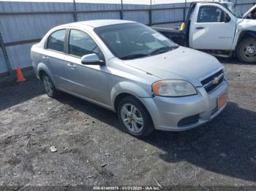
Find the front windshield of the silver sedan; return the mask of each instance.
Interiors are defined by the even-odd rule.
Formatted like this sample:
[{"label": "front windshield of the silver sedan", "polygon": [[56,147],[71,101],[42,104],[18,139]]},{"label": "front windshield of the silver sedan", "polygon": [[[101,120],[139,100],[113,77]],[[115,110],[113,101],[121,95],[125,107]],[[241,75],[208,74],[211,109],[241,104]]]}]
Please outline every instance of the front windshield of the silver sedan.
[{"label": "front windshield of the silver sedan", "polygon": [[117,58],[131,60],[157,55],[178,47],[162,34],[140,23],[124,23],[94,29]]}]

